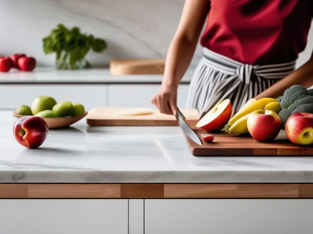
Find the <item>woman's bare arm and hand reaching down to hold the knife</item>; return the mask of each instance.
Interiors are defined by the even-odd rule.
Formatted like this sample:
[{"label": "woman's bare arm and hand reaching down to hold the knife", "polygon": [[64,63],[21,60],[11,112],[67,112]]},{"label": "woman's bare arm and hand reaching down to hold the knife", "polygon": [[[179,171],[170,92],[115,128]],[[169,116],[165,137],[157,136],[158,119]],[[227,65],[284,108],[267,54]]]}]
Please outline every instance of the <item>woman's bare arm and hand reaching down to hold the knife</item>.
[{"label": "woman's bare arm and hand reaching down to hold the knife", "polygon": [[186,0],[177,31],[166,56],[160,91],[151,102],[164,114],[177,110],[177,87],[185,74],[209,12],[208,0]]}]

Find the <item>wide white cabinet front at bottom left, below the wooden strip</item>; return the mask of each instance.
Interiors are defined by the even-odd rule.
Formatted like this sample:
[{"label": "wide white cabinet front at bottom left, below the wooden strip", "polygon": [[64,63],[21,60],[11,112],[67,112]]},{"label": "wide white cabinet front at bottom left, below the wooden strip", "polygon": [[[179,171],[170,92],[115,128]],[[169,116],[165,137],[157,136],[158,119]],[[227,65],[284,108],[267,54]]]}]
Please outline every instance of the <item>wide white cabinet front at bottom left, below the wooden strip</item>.
[{"label": "wide white cabinet front at bottom left, below the wooden strip", "polygon": [[128,233],[127,200],[0,200],[0,233]]}]

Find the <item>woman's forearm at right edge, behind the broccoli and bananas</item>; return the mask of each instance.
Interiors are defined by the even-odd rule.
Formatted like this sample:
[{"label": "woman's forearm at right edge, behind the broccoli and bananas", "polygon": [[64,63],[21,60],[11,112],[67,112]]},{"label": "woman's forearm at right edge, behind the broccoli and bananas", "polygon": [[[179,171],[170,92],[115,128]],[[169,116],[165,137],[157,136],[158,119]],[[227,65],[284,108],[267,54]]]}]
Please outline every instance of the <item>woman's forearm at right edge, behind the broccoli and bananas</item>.
[{"label": "woman's forearm at right edge, behind the broccoli and bananas", "polygon": [[313,85],[313,52],[309,61],[267,90],[255,96],[255,99],[264,97],[277,98],[283,95],[284,91],[292,85],[302,85],[305,88],[309,88]]}]

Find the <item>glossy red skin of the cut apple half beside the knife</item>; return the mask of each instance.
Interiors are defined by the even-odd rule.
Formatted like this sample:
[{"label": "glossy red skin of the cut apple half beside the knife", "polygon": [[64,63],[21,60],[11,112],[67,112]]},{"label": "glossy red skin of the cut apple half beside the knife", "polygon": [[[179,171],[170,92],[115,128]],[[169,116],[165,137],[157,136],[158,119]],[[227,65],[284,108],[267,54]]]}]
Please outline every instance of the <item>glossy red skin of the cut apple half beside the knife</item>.
[{"label": "glossy red skin of the cut apple half beside the knife", "polygon": [[[216,108],[216,107],[213,107],[213,108]],[[210,123],[203,125],[199,128],[208,132],[219,131],[223,129],[223,127],[228,123],[232,115],[232,112],[233,112],[233,107],[232,107],[231,102],[229,102],[227,107],[223,110],[223,112],[220,115],[218,115],[217,118],[213,119]]]}]

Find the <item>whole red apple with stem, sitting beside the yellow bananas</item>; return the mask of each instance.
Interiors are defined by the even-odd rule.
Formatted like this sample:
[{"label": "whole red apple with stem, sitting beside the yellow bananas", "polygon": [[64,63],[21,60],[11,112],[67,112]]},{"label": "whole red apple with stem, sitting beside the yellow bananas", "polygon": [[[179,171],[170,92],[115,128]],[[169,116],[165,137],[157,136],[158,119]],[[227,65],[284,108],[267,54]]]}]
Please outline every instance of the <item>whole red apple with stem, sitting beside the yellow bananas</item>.
[{"label": "whole red apple with stem, sitting beside the yellow bananas", "polygon": [[247,128],[251,136],[257,141],[274,140],[281,129],[281,120],[272,110],[265,110],[260,113],[256,110],[249,114]]}]

